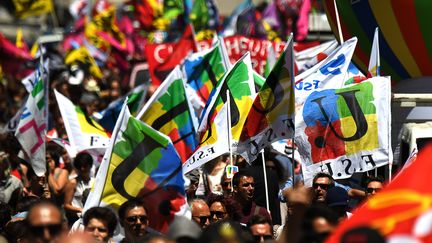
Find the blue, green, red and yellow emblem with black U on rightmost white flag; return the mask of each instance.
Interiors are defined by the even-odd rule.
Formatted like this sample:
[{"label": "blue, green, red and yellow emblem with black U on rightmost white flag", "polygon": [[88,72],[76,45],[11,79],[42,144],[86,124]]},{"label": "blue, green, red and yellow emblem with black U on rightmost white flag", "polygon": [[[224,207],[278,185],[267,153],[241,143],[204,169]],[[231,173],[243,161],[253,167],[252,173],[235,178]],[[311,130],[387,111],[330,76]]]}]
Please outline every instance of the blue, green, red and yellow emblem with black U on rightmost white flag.
[{"label": "blue, green, red and yellow emblem with black U on rightmost white flag", "polygon": [[343,89],[313,92],[303,119],[313,163],[378,148],[373,86],[369,82]]}]

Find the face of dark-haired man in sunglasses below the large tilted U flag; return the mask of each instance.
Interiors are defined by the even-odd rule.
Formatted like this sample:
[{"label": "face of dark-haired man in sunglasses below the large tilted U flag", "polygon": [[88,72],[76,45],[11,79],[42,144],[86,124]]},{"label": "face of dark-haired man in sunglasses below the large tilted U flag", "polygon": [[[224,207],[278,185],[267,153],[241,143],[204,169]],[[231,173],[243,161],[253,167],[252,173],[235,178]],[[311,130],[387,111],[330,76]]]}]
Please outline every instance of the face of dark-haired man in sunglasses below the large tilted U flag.
[{"label": "face of dark-haired man in sunglasses below the large tilted U flag", "polygon": [[140,206],[131,208],[125,216],[123,223],[126,235],[134,238],[145,236],[145,229],[149,224],[145,209]]}]

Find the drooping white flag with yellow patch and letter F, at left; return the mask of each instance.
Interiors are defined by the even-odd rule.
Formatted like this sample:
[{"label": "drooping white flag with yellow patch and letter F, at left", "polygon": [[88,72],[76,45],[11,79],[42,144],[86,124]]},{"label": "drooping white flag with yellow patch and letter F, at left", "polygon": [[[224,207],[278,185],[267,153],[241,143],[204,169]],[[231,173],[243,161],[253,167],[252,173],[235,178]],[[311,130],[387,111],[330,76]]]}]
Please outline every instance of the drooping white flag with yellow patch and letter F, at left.
[{"label": "drooping white flag with yellow patch and letter F, at left", "polygon": [[105,149],[111,135],[64,95],[57,90],[54,90],[54,94],[72,148],[77,153],[89,149]]}]

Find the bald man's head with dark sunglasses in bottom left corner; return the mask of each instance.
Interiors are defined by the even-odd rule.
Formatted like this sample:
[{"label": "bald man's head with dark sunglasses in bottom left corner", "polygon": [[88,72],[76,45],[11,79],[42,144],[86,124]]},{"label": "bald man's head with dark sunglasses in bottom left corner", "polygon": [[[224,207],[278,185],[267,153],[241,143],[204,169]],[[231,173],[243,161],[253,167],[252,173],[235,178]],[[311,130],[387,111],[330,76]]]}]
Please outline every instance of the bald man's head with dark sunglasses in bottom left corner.
[{"label": "bald man's head with dark sunglasses in bottom left corner", "polygon": [[57,242],[63,233],[60,210],[53,205],[35,206],[27,220],[35,242]]}]

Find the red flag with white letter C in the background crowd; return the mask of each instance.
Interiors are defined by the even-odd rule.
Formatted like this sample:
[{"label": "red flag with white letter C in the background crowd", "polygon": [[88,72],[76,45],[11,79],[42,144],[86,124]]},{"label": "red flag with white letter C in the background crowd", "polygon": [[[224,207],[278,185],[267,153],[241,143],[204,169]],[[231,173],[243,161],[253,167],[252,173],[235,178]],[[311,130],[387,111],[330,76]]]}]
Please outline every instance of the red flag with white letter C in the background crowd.
[{"label": "red flag with white letter C in the background crowd", "polygon": [[198,51],[190,24],[186,27],[180,40],[172,47],[172,53],[166,53],[166,58],[163,58],[158,52],[158,50],[163,49],[163,45],[170,45],[170,43],[148,44],[145,47],[150,77],[155,85],[160,85],[175,66],[180,64],[190,52]]}]

